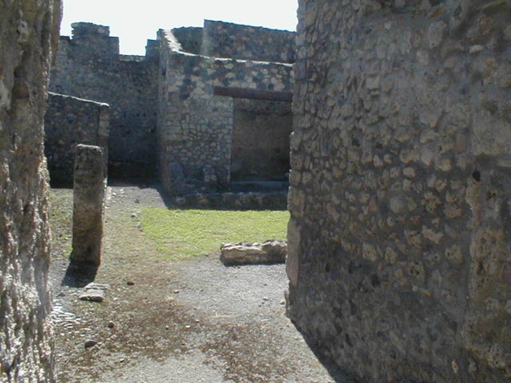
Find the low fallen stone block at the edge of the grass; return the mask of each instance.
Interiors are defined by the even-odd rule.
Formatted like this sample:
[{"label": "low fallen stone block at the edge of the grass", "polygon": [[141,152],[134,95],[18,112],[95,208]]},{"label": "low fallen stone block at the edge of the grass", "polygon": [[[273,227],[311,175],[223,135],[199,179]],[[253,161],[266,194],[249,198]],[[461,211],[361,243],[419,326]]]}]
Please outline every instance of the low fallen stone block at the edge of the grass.
[{"label": "low fallen stone block at the edge of the grass", "polygon": [[283,264],[286,262],[287,242],[224,244],[221,251],[220,260],[225,266]]}]

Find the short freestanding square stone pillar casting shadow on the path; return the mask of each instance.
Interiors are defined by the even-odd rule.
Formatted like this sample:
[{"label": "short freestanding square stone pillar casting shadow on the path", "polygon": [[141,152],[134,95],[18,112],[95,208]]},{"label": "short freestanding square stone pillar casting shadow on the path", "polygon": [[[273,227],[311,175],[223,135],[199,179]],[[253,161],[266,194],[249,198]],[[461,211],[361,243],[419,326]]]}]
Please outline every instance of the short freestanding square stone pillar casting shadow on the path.
[{"label": "short freestanding square stone pillar casting shadow on the path", "polygon": [[71,260],[99,266],[105,198],[103,148],[78,145],[73,187],[73,251]]}]

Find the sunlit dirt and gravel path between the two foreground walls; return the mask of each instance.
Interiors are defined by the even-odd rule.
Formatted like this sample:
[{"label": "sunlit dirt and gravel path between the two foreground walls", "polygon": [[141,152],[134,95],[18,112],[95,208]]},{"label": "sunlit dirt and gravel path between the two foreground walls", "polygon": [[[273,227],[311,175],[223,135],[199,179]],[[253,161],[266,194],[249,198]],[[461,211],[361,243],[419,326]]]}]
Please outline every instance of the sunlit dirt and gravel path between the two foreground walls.
[{"label": "sunlit dirt and gravel path between the two foreground walls", "polygon": [[[62,283],[65,246],[54,246],[60,383],[349,381],[285,317],[284,265],[225,268],[219,254],[166,261],[136,218],[141,205],[165,206],[157,190],[110,187],[108,196],[103,303],[81,302]],[[99,343],[85,349],[89,339]]]}]

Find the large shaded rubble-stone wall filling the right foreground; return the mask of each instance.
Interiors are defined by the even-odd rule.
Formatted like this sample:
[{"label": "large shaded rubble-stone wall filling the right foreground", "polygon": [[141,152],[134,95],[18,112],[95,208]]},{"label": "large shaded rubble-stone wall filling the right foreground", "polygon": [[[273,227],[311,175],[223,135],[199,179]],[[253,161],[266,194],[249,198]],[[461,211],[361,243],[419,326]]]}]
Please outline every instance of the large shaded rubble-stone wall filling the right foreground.
[{"label": "large shaded rubble-stone wall filling the right foreground", "polygon": [[363,381],[511,378],[510,6],[300,0],[289,310]]}]

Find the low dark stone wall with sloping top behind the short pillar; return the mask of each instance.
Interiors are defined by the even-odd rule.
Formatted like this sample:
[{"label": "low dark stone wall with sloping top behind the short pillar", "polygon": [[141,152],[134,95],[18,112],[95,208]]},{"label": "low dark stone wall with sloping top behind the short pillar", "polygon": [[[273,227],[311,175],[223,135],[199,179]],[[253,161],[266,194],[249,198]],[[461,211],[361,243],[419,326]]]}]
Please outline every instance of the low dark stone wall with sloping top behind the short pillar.
[{"label": "low dark stone wall with sloping top behind the short pillar", "polygon": [[50,92],[44,115],[44,153],[52,183],[73,185],[79,143],[102,147],[108,161],[109,131],[108,104]]}]

